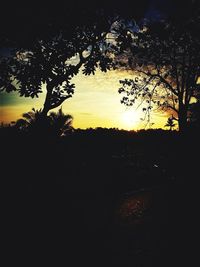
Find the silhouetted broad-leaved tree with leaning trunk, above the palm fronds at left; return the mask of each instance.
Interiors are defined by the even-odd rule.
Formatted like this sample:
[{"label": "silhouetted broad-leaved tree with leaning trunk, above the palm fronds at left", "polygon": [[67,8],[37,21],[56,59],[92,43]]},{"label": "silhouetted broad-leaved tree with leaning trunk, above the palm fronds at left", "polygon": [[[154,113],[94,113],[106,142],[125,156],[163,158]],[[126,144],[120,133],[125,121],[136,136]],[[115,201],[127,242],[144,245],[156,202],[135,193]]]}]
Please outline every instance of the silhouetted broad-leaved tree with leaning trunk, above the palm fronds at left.
[{"label": "silhouetted broad-leaved tree with leaning trunk, above the palm fronds at left", "polygon": [[48,40],[36,40],[29,49],[14,49],[12,55],[1,60],[1,90],[18,91],[20,96],[33,98],[45,87],[42,113],[46,116],[72,97],[75,85],[71,79],[81,68],[90,75],[96,68],[105,72],[112,67],[105,49],[109,27],[109,22],[103,28],[76,27],[67,38],[60,33]]}]

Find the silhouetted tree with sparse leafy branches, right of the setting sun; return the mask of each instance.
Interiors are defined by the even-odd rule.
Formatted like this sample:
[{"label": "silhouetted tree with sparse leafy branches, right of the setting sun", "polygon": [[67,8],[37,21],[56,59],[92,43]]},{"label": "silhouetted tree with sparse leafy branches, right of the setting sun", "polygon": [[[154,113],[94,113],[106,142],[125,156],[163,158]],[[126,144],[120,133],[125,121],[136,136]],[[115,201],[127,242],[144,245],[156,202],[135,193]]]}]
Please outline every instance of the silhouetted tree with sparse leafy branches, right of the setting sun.
[{"label": "silhouetted tree with sparse leafy branches, right of the setting sun", "polygon": [[121,66],[133,70],[134,78],[120,81],[121,102],[131,106],[140,100],[148,120],[155,107],[171,113],[185,131],[190,104],[200,88],[199,28],[194,17],[149,23],[139,30],[123,26],[118,60],[126,59]]}]

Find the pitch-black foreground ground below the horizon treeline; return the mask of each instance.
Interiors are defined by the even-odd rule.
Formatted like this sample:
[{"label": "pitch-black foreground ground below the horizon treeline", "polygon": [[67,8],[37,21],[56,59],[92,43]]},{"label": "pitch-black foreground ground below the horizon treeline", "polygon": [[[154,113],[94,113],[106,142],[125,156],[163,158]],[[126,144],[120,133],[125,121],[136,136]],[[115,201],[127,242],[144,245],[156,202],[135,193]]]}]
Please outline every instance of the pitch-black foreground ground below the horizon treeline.
[{"label": "pitch-black foreground ground below the horizon treeline", "polygon": [[166,132],[1,137],[8,263],[192,265],[197,138]]}]

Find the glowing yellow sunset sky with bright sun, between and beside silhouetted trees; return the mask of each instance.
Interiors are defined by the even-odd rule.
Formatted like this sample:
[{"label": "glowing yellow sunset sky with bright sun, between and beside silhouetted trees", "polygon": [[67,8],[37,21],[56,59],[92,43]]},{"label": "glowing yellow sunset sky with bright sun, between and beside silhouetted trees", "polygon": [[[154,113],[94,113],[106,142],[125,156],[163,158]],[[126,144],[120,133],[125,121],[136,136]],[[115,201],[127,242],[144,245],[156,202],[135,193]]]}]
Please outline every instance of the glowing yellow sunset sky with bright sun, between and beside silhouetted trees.
[{"label": "glowing yellow sunset sky with bright sun, between and beside silhouetted trees", "polygon": [[[62,104],[65,113],[74,117],[74,128],[119,128],[138,130],[145,127],[141,120],[143,112],[137,105],[127,108],[120,103],[118,93],[119,80],[133,77],[127,71],[97,71],[95,75],[84,76],[81,72],[74,78],[76,85],[72,98]],[[19,119],[24,112],[33,107],[42,108],[44,94],[39,98],[19,97],[16,93],[0,94],[0,120],[11,122]],[[152,128],[162,128],[167,121],[167,114],[153,113]]]}]

